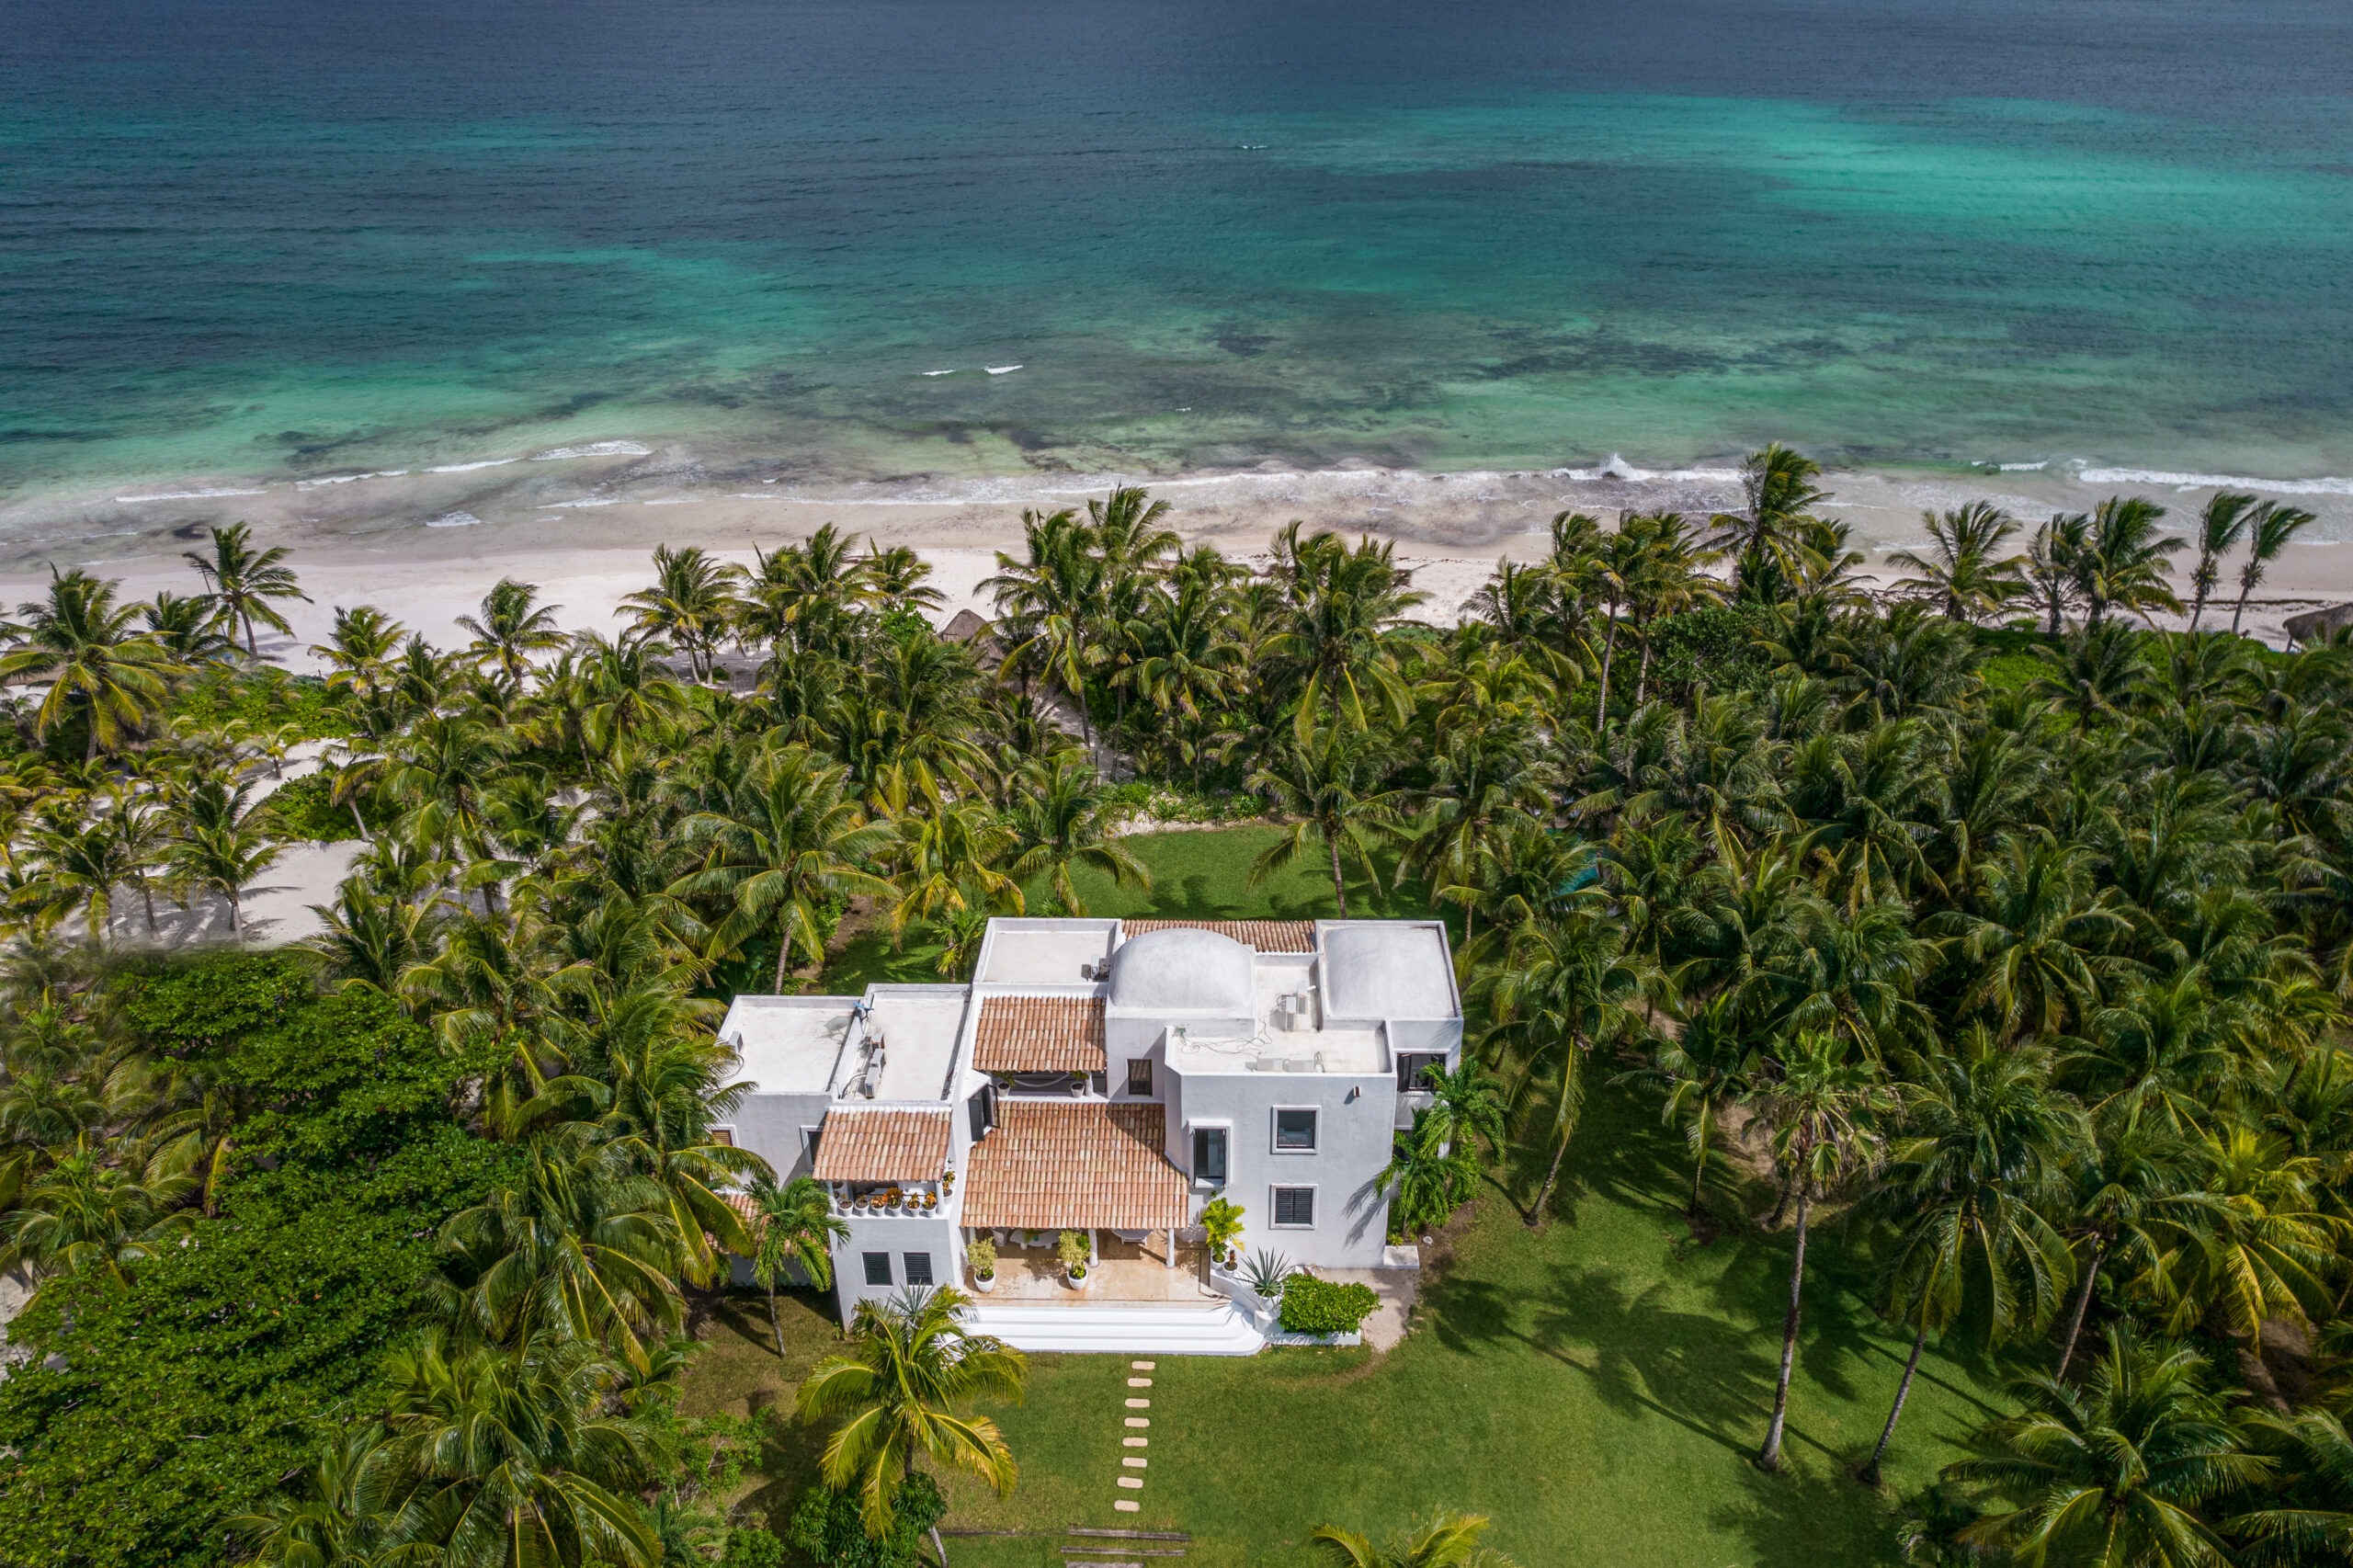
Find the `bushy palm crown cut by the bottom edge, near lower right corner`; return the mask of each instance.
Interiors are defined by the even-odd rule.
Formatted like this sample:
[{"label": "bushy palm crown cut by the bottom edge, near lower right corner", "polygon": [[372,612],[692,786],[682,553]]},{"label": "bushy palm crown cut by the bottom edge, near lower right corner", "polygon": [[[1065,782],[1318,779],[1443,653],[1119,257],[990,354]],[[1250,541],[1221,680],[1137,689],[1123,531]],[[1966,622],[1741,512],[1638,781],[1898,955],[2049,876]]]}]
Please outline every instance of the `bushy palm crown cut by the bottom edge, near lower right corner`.
[{"label": "bushy palm crown cut by the bottom edge, near lower right corner", "polygon": [[1962,1542],[2028,1568],[2228,1563],[2198,1509],[2254,1483],[2266,1464],[2240,1450],[2205,1370],[2198,1351],[2113,1326],[2080,1391],[2026,1377],[2026,1410],[1979,1431],[1977,1457],[1944,1471],[2009,1504],[1962,1530]]}]

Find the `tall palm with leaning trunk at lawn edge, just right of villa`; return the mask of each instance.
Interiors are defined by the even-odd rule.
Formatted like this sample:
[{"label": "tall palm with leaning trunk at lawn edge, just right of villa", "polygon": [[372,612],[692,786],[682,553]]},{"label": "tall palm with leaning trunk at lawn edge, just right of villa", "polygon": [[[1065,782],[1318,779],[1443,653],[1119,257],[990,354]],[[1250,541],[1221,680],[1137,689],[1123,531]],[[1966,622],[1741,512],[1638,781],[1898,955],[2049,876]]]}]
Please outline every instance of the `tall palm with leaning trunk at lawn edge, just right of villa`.
[{"label": "tall palm with leaning trunk at lawn edge, just right of villa", "polygon": [[1595,1050],[1642,1038],[1647,1022],[1638,1003],[1659,996],[1661,977],[1628,946],[1624,921],[1586,899],[1562,916],[1529,921],[1511,932],[1506,956],[1480,975],[1475,989],[1492,1010],[1494,1043],[1518,1048],[1520,1081],[1513,1099],[1527,1102],[1539,1083],[1551,1090],[1546,1142],[1553,1144],[1553,1161],[1527,1210],[1527,1222],[1541,1224],[1584,1109],[1586,1059]]}]

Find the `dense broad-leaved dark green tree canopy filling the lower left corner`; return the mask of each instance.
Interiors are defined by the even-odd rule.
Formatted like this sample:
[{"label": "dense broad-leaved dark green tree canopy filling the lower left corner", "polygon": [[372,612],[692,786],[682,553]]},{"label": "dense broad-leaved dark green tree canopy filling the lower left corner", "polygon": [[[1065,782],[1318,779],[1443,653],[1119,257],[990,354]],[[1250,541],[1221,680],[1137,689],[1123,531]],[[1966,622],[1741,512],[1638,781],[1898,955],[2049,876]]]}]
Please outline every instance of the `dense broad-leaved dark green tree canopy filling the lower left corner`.
[{"label": "dense broad-leaved dark green tree canopy filling the lower left corner", "polygon": [[127,1293],[45,1290],[12,1326],[38,1358],[0,1382],[0,1563],[238,1561],[221,1521],[381,1406],[433,1231],[511,1158],[438,1123],[372,1170],[254,1172]]}]

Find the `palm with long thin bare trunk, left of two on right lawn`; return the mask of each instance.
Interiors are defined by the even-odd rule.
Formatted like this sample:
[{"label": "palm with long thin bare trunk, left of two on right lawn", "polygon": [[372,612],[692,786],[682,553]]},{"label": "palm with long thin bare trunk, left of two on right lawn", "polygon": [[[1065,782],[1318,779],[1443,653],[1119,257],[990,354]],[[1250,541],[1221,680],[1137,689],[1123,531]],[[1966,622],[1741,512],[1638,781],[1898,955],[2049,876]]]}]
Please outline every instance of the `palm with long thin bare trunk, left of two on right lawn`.
[{"label": "palm with long thin bare trunk, left of two on right lawn", "polygon": [[1788,1316],[1781,1318],[1781,1377],[1772,1394],[1772,1424],[1758,1469],[1781,1469],[1788,1424],[1788,1377],[1798,1366],[1798,1311],[1805,1295],[1805,1227],[1817,1194],[1826,1194],[1871,1161],[1871,1132],[1892,1109],[1892,1092],[1868,1057],[1847,1055],[1845,1036],[1805,1031],[1786,1041],[1758,1092],[1772,1128],[1774,1165],[1798,1198],[1795,1250],[1788,1264]]}]

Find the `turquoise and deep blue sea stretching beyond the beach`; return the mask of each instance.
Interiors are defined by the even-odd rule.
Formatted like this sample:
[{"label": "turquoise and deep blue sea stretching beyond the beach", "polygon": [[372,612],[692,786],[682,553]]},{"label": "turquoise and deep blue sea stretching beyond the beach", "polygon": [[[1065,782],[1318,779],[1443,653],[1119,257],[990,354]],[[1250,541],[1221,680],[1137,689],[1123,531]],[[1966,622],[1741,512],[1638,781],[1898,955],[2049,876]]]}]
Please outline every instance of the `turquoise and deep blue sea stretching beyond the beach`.
[{"label": "turquoise and deep blue sea stretching beyond the beach", "polygon": [[602,440],[2353,476],[2337,0],[7,16],[0,499]]}]

